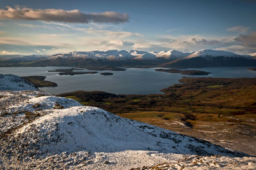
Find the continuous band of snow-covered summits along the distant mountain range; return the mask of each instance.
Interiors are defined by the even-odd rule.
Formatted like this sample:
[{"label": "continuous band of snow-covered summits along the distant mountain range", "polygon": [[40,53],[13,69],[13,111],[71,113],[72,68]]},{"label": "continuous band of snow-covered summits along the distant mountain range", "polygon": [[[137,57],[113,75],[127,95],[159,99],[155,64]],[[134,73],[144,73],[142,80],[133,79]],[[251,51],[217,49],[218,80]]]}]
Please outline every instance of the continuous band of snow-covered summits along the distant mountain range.
[{"label": "continuous band of snow-covered summits along the distant mountain range", "polygon": [[[253,54],[255,55],[255,54]],[[154,59],[182,59],[192,57],[244,57],[232,52],[218,51],[218,50],[199,50],[197,52],[183,53],[177,50],[159,51],[159,52],[145,52],[138,50],[107,50],[107,51],[90,51],[90,52],[69,52],[52,55],[50,59],[106,59],[106,60],[154,60]]]}]

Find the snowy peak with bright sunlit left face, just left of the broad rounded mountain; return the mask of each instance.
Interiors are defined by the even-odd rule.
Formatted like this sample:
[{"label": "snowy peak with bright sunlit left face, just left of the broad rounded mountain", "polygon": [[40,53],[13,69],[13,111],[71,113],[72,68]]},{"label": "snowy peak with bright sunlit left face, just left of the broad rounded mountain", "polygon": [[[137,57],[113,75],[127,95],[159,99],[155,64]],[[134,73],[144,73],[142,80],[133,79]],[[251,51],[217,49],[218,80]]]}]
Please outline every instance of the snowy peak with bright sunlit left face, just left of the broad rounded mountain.
[{"label": "snowy peak with bright sunlit left face, just left of the broad rounded mountain", "polygon": [[170,51],[161,51],[161,52],[150,52],[156,55],[156,57],[164,58],[164,59],[180,59],[183,57],[187,57],[191,53],[182,53],[176,50],[170,50]]}]

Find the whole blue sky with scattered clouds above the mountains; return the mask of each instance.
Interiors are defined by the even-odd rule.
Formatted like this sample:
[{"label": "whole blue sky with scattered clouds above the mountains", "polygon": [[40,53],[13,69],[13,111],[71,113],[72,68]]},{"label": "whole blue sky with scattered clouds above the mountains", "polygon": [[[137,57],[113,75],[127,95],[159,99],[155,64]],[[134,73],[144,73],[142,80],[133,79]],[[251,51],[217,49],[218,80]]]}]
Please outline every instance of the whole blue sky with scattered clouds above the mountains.
[{"label": "whole blue sky with scattered clouds above the mountains", "polygon": [[0,55],[256,52],[256,0],[1,0]]}]

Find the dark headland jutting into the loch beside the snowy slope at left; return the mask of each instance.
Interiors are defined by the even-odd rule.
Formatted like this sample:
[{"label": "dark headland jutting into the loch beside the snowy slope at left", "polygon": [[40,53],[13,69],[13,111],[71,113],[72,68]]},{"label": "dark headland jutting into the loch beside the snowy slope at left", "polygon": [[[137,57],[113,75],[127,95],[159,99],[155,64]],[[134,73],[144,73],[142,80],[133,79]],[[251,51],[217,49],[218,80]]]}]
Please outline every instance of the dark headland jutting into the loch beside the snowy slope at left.
[{"label": "dark headland jutting into the loch beside the snowy slope at left", "polygon": [[23,76],[22,78],[30,81],[35,87],[57,87],[52,81],[45,81],[46,76]]}]

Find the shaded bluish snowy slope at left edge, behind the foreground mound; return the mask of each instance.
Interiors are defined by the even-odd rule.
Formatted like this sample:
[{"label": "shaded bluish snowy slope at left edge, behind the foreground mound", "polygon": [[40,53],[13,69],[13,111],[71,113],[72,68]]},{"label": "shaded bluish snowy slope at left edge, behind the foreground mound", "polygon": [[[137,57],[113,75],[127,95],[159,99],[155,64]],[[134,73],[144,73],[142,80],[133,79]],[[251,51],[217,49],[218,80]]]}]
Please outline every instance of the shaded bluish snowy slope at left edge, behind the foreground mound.
[{"label": "shaded bluish snowy slope at left edge, behind the foreground mound", "polygon": [[24,78],[12,74],[0,74],[0,90],[38,90]]}]

